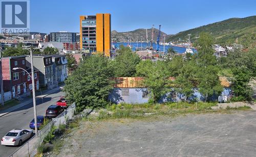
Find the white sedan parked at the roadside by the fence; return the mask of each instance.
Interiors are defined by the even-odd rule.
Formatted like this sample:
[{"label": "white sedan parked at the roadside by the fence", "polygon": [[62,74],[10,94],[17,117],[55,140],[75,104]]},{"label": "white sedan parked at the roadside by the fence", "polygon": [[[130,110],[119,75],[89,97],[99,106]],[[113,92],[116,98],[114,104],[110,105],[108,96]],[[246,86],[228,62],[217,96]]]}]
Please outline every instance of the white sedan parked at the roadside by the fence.
[{"label": "white sedan parked at the roadside by the fence", "polygon": [[1,140],[2,145],[22,145],[24,141],[31,138],[33,136],[33,130],[32,129],[21,129],[21,128],[15,128],[13,130],[10,130],[9,133],[7,133]]}]

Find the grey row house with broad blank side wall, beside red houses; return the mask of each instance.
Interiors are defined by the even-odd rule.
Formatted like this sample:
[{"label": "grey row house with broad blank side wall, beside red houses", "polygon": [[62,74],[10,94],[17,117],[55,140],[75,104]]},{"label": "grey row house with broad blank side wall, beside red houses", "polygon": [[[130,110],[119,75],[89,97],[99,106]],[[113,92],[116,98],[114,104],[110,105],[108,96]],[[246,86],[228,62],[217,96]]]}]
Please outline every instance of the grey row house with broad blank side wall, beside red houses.
[{"label": "grey row house with broad blank side wall, beside red houses", "polygon": [[[30,62],[30,56],[26,57]],[[39,85],[50,86],[53,85],[53,63],[51,55],[33,55],[33,65],[38,69]]]}]

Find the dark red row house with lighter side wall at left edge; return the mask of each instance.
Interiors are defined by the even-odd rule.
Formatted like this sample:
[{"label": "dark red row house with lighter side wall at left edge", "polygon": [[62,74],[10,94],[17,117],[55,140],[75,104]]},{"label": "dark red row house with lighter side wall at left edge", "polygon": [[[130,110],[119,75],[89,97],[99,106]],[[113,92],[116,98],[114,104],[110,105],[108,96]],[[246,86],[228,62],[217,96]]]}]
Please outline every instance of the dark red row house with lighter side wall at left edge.
[{"label": "dark red row house with lighter side wall at left edge", "polygon": [[26,72],[22,69],[13,70],[13,68],[26,69],[26,56],[12,56],[2,58],[2,74],[4,92],[11,91],[12,98],[27,92]]}]

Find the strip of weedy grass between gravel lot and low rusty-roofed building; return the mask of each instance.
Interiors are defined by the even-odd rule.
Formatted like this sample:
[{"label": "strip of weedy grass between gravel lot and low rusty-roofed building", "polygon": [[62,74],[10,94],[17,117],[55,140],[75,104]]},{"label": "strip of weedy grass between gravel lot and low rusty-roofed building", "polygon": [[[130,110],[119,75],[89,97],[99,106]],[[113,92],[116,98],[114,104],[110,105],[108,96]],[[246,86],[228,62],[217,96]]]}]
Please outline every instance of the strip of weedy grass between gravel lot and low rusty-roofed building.
[{"label": "strip of weedy grass between gravel lot and low rusty-roofed building", "polygon": [[[200,114],[200,113],[230,113],[229,110],[212,110],[211,107],[217,106],[217,102],[198,102],[198,103],[188,103],[188,102],[173,102],[165,104],[112,104],[108,106],[106,110],[99,110],[99,116],[89,116],[83,118],[83,120],[103,120],[103,119],[121,119],[121,118],[136,118],[143,119],[149,117],[158,116],[177,116],[184,114]],[[248,110],[234,109],[234,110]]]}]

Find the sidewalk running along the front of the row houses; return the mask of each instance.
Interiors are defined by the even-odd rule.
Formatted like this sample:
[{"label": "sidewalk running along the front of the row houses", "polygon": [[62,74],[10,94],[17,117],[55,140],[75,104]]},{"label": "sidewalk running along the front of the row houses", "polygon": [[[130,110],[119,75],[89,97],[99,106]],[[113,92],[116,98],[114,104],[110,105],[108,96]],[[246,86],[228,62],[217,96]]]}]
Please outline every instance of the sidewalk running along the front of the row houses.
[{"label": "sidewalk running along the front of the row houses", "polygon": [[[56,92],[56,91],[58,91],[60,89],[63,89],[63,87],[56,87],[56,88],[53,88],[51,90],[47,90],[45,92],[42,92],[42,95],[35,96],[35,98],[43,98],[43,97],[45,97],[45,96],[47,96],[49,94],[52,94],[52,93],[54,93],[54,92]],[[33,98],[28,98],[24,102],[21,102],[21,103],[17,104],[14,107],[8,108],[8,109],[3,110],[3,111],[0,111],[0,117],[4,116],[4,115],[6,115],[6,114],[8,114],[8,113],[10,113],[10,112],[12,112],[14,110],[17,110],[19,108],[27,106],[29,103],[32,103],[32,102],[33,102]]]}]

